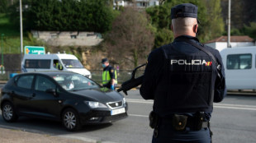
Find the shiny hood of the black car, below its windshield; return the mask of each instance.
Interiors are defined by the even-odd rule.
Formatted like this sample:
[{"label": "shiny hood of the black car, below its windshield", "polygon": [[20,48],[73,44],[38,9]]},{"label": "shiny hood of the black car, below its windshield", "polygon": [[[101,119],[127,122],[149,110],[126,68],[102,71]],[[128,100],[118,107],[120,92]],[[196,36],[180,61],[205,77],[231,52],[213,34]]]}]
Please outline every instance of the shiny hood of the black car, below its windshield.
[{"label": "shiny hood of the black car, below its windshield", "polygon": [[107,88],[97,88],[89,90],[78,90],[72,91],[73,94],[82,95],[88,97],[88,99],[93,99],[94,101],[101,103],[116,102],[121,101],[124,96],[115,90],[109,90]]}]

